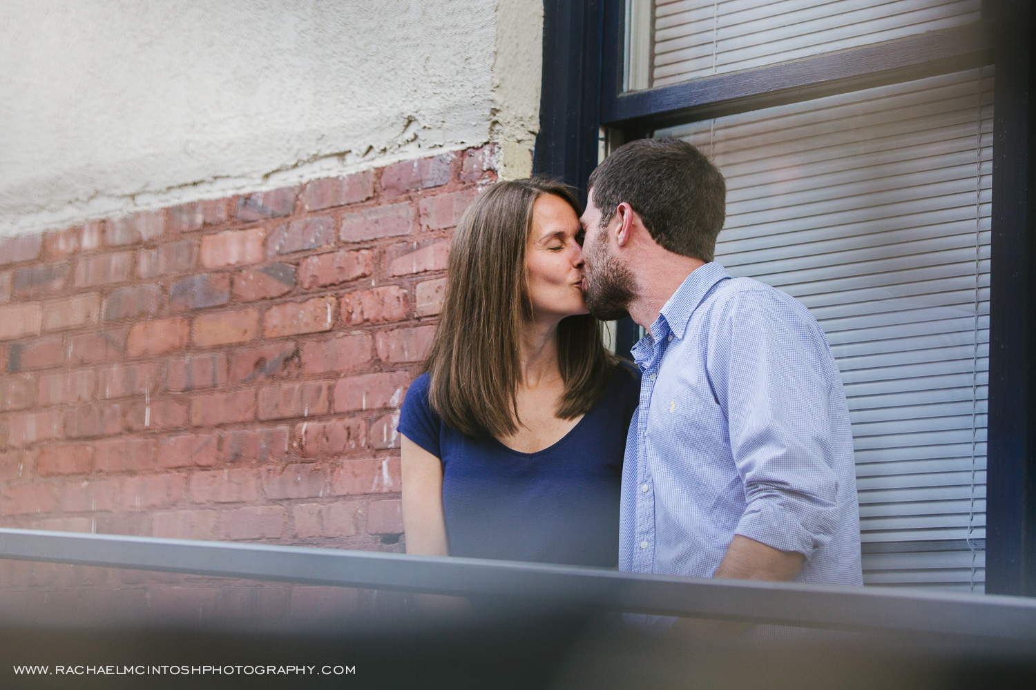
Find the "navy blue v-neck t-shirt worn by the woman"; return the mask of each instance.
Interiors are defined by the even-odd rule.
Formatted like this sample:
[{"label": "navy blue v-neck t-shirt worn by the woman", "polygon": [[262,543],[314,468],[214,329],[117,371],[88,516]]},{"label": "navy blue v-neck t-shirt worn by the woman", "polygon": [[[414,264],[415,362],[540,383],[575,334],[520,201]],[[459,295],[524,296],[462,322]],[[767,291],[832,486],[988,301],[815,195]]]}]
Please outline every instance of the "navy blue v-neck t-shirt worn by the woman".
[{"label": "navy blue v-neck t-shirt worn by the woman", "polygon": [[428,403],[429,374],[419,377],[399,431],[442,461],[450,554],[616,566],[623,454],[639,378],[618,366],[604,396],[560,441],[522,453],[488,433],[471,438],[447,426]]}]

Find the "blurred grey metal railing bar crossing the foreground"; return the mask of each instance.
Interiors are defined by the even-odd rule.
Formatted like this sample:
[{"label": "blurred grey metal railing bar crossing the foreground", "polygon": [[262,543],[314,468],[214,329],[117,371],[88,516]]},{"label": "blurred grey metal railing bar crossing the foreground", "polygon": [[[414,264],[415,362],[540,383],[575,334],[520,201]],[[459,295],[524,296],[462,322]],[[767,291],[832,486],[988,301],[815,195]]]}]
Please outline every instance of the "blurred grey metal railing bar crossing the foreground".
[{"label": "blurred grey metal railing bar crossing the foreground", "polygon": [[301,546],[0,529],[0,558],[308,584],[530,598],[542,605],[1036,641],[1036,600],[620,573]]}]

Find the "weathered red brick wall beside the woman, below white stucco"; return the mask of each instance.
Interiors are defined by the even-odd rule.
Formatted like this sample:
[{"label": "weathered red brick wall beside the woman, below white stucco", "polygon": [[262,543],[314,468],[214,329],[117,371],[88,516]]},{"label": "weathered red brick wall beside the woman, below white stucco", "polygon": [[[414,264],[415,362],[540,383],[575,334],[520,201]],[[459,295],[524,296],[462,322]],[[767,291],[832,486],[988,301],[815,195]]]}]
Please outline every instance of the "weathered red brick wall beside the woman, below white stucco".
[{"label": "weathered red brick wall beside the woman, below white stucco", "polygon": [[398,409],[489,153],[0,241],[0,524],[401,550]]}]

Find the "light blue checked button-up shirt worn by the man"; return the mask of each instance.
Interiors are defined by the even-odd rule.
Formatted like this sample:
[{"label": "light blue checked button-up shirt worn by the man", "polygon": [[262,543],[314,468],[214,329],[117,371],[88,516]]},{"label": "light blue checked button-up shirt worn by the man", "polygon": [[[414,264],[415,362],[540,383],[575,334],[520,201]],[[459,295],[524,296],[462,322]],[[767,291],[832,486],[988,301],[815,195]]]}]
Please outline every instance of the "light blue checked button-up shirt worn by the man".
[{"label": "light blue checked button-up shirt worn by the man", "polygon": [[845,394],[805,306],[706,264],[633,356],[620,570],[711,577],[740,534],[805,554],[797,581],[863,583]]}]

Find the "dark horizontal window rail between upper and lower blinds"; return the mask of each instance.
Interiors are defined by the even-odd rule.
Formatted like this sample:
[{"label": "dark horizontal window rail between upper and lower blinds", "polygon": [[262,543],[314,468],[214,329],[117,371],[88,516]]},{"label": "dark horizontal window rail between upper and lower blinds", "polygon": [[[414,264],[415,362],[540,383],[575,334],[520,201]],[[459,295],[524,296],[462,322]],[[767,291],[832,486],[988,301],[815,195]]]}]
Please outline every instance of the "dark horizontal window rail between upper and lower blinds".
[{"label": "dark horizontal window rail between upper and lower blinds", "polygon": [[601,98],[601,123],[658,128],[992,62],[991,26],[967,26]]}]

